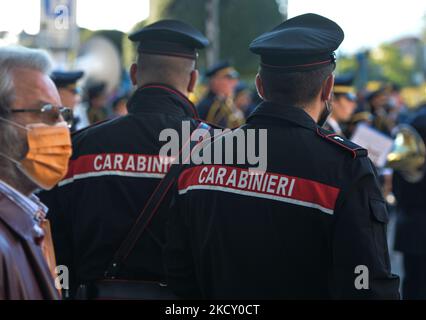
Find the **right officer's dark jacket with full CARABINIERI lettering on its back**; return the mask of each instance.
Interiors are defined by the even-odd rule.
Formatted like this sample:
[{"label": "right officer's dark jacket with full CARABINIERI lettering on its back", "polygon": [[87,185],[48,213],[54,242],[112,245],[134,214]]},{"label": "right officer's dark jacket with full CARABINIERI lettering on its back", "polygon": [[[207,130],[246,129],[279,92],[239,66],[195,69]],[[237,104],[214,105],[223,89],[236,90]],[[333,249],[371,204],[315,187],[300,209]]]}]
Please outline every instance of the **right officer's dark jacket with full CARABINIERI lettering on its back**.
[{"label": "right officer's dark jacket with full CARABINIERI lettering on its back", "polygon": [[175,293],[398,299],[388,212],[367,151],[302,109],[270,102],[249,117],[246,136],[248,129],[267,129],[266,173],[234,160],[179,176],[165,249]]}]

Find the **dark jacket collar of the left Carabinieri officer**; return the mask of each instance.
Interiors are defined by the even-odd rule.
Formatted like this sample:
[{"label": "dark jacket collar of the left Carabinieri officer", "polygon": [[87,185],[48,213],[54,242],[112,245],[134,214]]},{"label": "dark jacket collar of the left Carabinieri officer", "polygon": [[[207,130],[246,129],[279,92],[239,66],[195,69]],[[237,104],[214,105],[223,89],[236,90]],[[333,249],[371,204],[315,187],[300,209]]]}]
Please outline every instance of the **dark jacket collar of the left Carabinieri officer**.
[{"label": "dark jacket collar of the left Carabinieri officer", "polygon": [[151,111],[198,119],[194,104],[181,92],[165,84],[152,83],[138,88],[127,107],[131,113]]}]

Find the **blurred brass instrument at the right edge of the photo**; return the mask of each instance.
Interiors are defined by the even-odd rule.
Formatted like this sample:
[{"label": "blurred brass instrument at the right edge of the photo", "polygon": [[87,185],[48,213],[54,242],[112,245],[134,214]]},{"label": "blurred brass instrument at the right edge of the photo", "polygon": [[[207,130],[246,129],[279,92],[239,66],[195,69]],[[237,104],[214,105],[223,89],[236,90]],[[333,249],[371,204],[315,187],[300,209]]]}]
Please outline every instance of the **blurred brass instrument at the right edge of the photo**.
[{"label": "blurred brass instrument at the right edge of the photo", "polygon": [[397,126],[394,142],[387,156],[387,167],[398,171],[410,183],[419,182],[425,174],[426,147],[422,137],[412,126]]}]

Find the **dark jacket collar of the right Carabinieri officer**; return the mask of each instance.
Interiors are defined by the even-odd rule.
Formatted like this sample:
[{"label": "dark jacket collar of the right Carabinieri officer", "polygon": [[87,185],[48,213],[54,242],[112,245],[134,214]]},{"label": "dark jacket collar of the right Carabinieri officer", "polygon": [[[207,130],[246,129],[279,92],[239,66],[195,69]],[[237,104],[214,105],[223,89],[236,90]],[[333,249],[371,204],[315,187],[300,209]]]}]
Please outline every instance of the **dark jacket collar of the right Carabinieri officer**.
[{"label": "dark jacket collar of the right Carabinieri officer", "polygon": [[317,131],[318,125],[302,108],[281,105],[274,102],[264,101],[257,106],[255,111],[248,117],[247,122],[261,122],[262,118],[271,120],[285,120],[298,126]]}]

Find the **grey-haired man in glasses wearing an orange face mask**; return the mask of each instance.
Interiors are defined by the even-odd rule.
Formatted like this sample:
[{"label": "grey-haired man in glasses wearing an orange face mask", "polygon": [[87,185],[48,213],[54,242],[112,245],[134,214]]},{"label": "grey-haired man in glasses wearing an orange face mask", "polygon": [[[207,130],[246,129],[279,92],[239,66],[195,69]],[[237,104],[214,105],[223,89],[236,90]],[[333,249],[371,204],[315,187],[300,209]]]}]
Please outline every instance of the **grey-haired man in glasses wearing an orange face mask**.
[{"label": "grey-haired man in glasses wearing an orange face mask", "polygon": [[33,194],[64,176],[71,155],[50,69],[43,51],[0,48],[0,300],[58,298],[47,208]]}]

